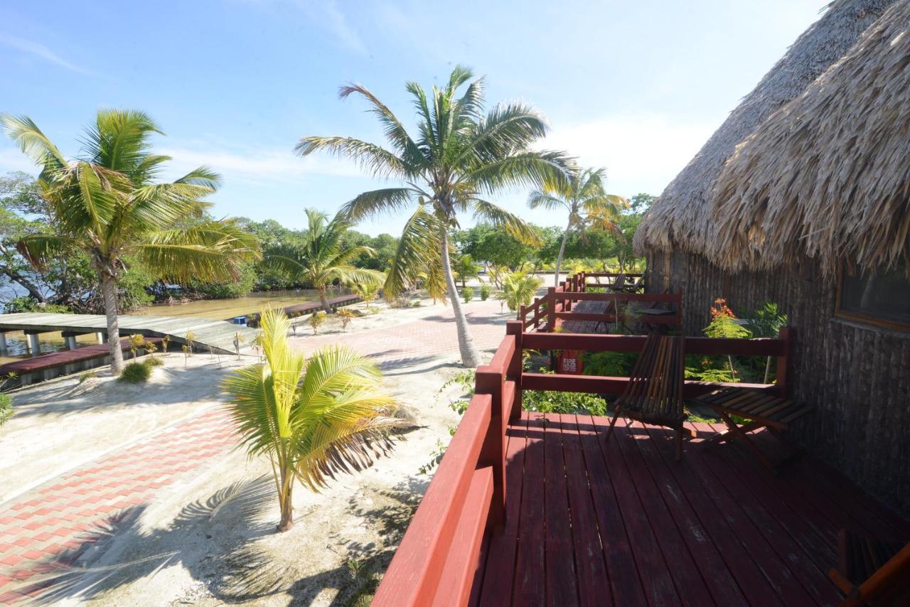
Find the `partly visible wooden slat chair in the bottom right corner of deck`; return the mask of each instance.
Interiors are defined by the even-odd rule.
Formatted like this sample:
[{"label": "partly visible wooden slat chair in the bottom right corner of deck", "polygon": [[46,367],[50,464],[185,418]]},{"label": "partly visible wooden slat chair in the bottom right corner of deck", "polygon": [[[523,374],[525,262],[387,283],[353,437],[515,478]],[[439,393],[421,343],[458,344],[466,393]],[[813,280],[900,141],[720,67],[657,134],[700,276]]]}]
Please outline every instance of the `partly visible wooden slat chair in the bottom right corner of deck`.
[{"label": "partly visible wooden slat chair in the bottom right corner of deck", "polygon": [[838,566],[828,572],[842,605],[910,604],[910,542],[879,541],[842,529]]}]

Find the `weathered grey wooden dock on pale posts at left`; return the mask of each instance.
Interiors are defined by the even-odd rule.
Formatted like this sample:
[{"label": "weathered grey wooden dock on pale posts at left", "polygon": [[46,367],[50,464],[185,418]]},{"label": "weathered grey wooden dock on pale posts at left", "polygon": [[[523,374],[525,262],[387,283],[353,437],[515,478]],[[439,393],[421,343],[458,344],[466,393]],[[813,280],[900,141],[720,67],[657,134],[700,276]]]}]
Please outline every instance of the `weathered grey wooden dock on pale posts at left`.
[{"label": "weathered grey wooden dock on pale posts at left", "polygon": [[[119,317],[120,335],[127,337],[138,333],[145,337],[168,337],[178,344],[187,343],[187,331],[196,338],[194,344],[220,354],[233,354],[234,336],[239,333],[241,348],[248,347],[258,331],[225,320],[197,319],[193,317],[131,316]],[[0,332],[25,331],[27,334],[60,331],[70,335],[81,333],[106,333],[107,320],[100,314],[0,314]]]}]

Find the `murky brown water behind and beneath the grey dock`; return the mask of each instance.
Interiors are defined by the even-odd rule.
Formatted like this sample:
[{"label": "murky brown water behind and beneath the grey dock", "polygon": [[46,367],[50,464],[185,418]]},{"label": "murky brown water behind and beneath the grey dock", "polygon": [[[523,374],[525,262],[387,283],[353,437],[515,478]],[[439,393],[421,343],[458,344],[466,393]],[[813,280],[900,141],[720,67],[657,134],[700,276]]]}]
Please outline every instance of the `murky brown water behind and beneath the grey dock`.
[{"label": "murky brown water behind and beneath the grey dock", "polygon": [[[329,292],[329,297],[341,294],[341,291]],[[287,291],[263,291],[261,293],[250,293],[242,298],[234,299],[203,299],[199,301],[190,301],[185,304],[156,304],[149,306],[138,312],[131,312],[139,316],[177,316],[177,317],[196,317],[201,319],[231,319],[235,316],[243,316],[258,312],[267,306],[284,308],[305,301],[314,301],[319,299],[319,293],[316,289],[301,288],[298,290]],[[94,333],[80,335],[76,337],[76,342],[80,347],[91,346],[97,343]],[[31,356],[28,351],[28,339],[21,331],[11,331],[6,333],[6,349],[8,357],[0,357],[0,364],[11,362],[15,359],[24,359]],[[41,353],[56,352],[66,349],[66,341],[60,333],[42,333],[41,334]]]}]

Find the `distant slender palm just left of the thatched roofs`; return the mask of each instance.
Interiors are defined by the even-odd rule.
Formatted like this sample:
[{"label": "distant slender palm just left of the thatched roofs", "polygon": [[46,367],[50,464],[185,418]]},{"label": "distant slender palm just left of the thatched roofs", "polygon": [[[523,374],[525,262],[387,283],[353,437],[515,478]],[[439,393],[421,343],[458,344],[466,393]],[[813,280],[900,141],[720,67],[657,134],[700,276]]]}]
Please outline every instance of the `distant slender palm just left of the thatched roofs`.
[{"label": "distant slender palm just left of the thatched roofs", "polygon": [[556,257],[556,287],[560,285],[562,256],[565,255],[571,231],[580,228],[582,237],[584,230],[591,226],[615,231],[616,218],[621,209],[629,204],[625,198],[603,191],[603,172],[602,168],[575,169],[569,172],[568,179],[544,184],[528,197],[531,208],[564,208],[569,211],[569,223],[562,232],[560,252]]}]

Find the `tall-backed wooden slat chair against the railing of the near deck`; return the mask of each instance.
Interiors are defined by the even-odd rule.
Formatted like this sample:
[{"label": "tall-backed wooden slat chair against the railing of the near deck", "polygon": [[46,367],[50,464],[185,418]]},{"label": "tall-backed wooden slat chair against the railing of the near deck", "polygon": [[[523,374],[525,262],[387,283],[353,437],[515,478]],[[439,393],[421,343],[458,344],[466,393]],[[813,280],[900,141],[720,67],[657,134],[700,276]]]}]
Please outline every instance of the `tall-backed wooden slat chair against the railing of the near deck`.
[{"label": "tall-backed wooden slat chair against the railing of the near deck", "polygon": [[608,440],[620,415],[672,428],[676,430],[676,460],[680,460],[682,433],[685,431],[683,423],[686,420],[682,408],[683,343],[682,337],[654,333],[648,336],[632,369],[629,383],[614,404],[615,413],[607,430]]}]

